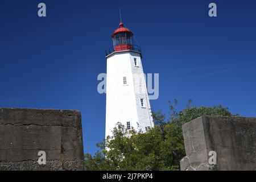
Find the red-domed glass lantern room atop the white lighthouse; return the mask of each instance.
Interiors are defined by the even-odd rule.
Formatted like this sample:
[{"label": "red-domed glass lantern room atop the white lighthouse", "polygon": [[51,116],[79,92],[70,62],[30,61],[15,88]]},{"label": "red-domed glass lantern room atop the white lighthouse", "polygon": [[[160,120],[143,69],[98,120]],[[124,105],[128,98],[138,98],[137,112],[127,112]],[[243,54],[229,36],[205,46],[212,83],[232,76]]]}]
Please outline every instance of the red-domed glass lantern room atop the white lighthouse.
[{"label": "red-domed glass lantern room atop the white lighthouse", "polygon": [[119,28],[112,34],[114,51],[133,50],[133,32],[119,23]]}]

